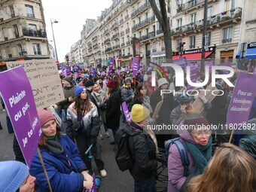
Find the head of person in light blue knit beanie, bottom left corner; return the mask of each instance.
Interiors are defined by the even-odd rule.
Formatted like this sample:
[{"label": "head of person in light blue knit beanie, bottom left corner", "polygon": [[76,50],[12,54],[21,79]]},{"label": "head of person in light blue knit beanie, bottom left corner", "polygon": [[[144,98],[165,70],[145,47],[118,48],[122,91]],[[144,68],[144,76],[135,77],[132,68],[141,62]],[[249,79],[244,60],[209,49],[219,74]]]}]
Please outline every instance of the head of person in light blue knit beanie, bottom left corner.
[{"label": "head of person in light blue knit beanie, bottom left corner", "polygon": [[0,162],[0,191],[35,191],[35,177],[29,175],[29,167],[19,161]]}]

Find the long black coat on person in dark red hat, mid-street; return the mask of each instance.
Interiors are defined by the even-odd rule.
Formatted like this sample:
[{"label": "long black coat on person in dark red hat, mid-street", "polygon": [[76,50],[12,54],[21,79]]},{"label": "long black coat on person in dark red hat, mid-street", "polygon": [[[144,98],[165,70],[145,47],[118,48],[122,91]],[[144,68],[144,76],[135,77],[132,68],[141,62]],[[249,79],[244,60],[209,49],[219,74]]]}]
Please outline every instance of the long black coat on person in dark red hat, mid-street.
[{"label": "long black coat on person in dark red hat, mid-street", "polygon": [[114,91],[106,106],[106,123],[109,129],[117,129],[120,126],[120,104],[120,94]]}]

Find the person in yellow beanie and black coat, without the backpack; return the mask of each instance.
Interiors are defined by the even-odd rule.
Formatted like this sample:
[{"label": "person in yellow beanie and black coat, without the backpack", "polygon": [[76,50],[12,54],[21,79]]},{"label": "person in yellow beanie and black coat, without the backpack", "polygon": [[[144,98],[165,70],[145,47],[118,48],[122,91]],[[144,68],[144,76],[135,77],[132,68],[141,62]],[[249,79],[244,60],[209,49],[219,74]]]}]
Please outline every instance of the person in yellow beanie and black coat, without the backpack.
[{"label": "person in yellow beanie and black coat, without the backpack", "polygon": [[[150,112],[143,105],[133,105],[132,122],[126,123],[117,131],[129,135],[129,149],[133,157],[133,167],[129,169],[134,178],[134,191],[155,192],[157,169],[157,140],[153,131],[148,130]],[[120,139],[115,139],[120,141]]]}]

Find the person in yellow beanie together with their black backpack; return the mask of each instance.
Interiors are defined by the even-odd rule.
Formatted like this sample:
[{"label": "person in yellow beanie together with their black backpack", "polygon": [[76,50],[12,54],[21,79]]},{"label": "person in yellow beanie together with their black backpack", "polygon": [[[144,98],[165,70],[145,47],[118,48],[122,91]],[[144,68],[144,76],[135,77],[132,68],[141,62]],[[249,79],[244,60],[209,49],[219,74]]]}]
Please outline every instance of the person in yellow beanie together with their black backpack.
[{"label": "person in yellow beanie together with their black backpack", "polygon": [[133,122],[126,123],[115,136],[116,161],[120,170],[129,169],[134,178],[134,191],[155,192],[157,170],[157,139],[147,130],[150,117],[148,108],[133,105]]}]

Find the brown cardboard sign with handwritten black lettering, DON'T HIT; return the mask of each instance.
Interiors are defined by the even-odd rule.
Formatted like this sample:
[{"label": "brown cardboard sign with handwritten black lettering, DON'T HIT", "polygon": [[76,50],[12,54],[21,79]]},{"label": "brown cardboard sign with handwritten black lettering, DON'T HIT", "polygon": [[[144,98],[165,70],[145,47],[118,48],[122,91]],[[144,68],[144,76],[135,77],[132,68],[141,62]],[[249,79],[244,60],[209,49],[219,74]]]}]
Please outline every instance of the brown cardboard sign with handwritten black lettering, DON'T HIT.
[{"label": "brown cardboard sign with handwritten black lettering, DON'T HIT", "polygon": [[8,69],[23,66],[32,87],[37,108],[46,108],[64,99],[59,72],[54,59],[6,62]]}]

